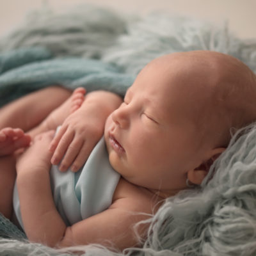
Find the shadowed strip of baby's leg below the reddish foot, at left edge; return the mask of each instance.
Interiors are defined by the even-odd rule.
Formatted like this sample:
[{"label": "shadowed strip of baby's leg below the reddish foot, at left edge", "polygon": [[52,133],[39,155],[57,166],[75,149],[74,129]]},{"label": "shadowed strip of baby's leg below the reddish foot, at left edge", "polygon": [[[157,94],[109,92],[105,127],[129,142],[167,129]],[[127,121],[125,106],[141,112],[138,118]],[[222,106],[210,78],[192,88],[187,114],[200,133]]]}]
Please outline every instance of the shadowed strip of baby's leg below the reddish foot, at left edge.
[{"label": "shadowed strip of baby's leg below the reddish foot, at left edge", "polygon": [[0,212],[8,219],[12,217],[13,186],[16,178],[15,158],[0,157]]}]

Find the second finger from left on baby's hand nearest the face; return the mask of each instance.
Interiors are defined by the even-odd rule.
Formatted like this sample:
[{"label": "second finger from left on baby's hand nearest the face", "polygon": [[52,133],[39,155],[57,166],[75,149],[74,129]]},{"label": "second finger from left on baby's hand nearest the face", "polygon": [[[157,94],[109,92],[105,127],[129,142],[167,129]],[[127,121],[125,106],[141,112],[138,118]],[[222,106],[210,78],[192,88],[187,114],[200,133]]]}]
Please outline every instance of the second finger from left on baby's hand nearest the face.
[{"label": "second finger from left on baby's hand nearest the face", "polygon": [[54,151],[54,154],[51,159],[52,164],[60,163],[62,157],[65,155],[65,152],[67,151],[67,148],[70,145],[73,138],[74,138],[73,131],[65,132],[65,134],[62,136],[60,142],[58,143],[56,150]]}]

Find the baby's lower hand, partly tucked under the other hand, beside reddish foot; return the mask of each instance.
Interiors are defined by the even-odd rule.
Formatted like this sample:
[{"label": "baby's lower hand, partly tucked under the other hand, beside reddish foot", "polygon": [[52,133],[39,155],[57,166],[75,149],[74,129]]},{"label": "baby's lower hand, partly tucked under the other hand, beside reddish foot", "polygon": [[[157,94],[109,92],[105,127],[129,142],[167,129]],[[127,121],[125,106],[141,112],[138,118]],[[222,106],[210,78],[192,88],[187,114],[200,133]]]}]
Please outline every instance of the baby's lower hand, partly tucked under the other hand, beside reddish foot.
[{"label": "baby's lower hand, partly tucked under the other hand, beside reddish foot", "polygon": [[54,131],[44,132],[35,136],[30,147],[17,156],[17,173],[26,172],[26,170],[38,170],[38,168],[46,171],[50,170],[52,154],[49,152],[48,147],[53,136]]}]

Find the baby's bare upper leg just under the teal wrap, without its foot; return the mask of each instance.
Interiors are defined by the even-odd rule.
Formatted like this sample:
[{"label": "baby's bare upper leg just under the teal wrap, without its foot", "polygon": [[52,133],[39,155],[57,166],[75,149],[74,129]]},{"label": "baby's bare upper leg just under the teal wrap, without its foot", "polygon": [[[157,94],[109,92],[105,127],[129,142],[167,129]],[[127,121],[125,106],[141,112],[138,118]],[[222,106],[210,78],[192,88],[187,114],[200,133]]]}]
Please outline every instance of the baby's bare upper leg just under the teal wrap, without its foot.
[{"label": "baby's bare upper leg just under the teal wrap, without its foot", "polygon": [[14,100],[0,109],[0,129],[19,127],[29,131],[40,124],[53,109],[58,108],[71,94],[60,86],[51,86]]}]

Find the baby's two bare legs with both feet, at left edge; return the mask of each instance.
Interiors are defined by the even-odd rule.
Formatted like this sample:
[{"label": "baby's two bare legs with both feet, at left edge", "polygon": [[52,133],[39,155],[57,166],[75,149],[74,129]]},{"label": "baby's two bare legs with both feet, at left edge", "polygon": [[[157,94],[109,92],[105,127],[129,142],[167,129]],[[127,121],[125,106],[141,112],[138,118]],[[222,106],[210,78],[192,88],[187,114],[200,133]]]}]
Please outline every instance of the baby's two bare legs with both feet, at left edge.
[{"label": "baby's two bare legs with both feet, at left edge", "polygon": [[[20,126],[20,128],[5,127],[0,130],[0,195],[4,195],[0,198],[0,212],[6,218],[10,219],[12,216],[13,184],[16,179],[15,156],[13,153],[19,148],[28,147],[31,138],[34,138],[36,134],[49,131],[49,129],[56,129],[67,115],[81,106],[85,90],[78,88],[74,91],[72,97],[63,102],[70,93],[61,87],[50,87],[31,93],[1,109],[0,115],[3,115],[1,125]],[[51,101],[45,100],[50,97]],[[43,105],[40,106],[40,109],[37,108],[38,104],[36,104],[38,100]],[[32,108],[34,106],[35,108]],[[28,109],[33,109],[33,111],[28,111]],[[20,119],[20,116],[22,116],[22,119]],[[34,127],[36,124],[38,125]],[[29,131],[29,129],[31,130]],[[28,133],[24,131],[28,131]]]}]

